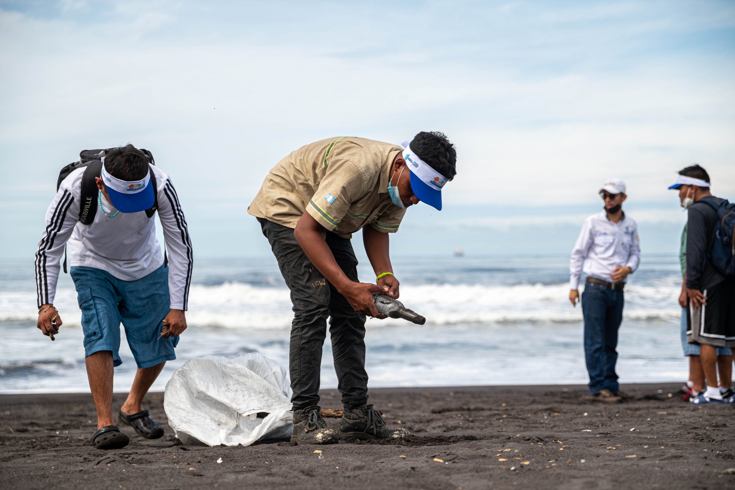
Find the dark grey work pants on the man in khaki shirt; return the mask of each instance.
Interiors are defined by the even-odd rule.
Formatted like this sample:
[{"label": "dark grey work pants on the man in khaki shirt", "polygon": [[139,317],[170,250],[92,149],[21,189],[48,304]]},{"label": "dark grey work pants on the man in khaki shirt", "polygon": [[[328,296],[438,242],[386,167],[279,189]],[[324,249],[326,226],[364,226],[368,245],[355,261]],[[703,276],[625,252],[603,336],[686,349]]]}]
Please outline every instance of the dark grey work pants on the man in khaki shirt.
[{"label": "dark grey work pants on the man in khaki shirt", "polygon": [[[337,371],[337,389],[345,408],[368,401],[368,373],[365,372],[365,315],[352,309],[347,299],[311,263],[293,236],[293,229],[258,218],[286,285],[291,290],[293,322],[289,371],[293,409],[319,403],[322,346],[329,317],[331,351]],[[357,258],[348,238],[327,232],[337,265],[357,281]]]}]

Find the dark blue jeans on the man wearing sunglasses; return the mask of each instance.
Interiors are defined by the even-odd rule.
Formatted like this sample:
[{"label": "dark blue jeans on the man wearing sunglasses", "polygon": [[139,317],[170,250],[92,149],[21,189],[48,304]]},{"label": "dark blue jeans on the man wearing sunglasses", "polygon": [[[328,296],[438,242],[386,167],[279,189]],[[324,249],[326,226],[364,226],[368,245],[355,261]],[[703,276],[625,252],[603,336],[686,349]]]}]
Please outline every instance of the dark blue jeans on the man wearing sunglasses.
[{"label": "dark blue jeans on the man wearing sunglasses", "polygon": [[623,290],[587,284],[582,293],[584,314],[584,358],[589,373],[589,392],[607,388],[617,393],[617,330],[623,321]]}]

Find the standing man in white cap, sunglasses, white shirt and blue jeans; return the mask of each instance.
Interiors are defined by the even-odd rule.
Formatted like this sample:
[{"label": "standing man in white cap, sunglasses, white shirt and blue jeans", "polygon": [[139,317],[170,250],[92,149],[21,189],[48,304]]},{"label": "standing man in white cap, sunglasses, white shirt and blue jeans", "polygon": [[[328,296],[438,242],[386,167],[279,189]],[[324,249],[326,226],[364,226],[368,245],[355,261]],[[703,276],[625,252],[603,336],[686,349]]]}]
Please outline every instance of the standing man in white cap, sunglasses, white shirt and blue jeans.
[{"label": "standing man in white cap, sunglasses, white shirt and blue jeans", "polygon": [[600,196],[604,211],[584,220],[570,261],[569,299],[579,301],[579,277],[586,277],[582,293],[584,356],[589,373],[589,393],[597,401],[625,398],[617,384],[617,330],[623,321],[625,277],[638,268],[640,247],[636,222],[623,213],[625,183],[611,179]]}]

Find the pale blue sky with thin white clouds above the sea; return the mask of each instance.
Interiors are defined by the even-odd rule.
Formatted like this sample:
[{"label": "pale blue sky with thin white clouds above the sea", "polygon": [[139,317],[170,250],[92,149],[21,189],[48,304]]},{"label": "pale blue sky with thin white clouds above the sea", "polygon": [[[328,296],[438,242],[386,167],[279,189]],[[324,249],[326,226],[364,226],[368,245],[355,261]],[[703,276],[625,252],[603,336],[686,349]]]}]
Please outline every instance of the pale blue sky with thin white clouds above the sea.
[{"label": "pale blue sky with thin white clouds above the sea", "polygon": [[735,2],[0,1],[0,108],[4,257],[32,260],[83,149],[151,150],[199,257],[263,255],[245,210],[280,158],[418,131],[458,174],[396,254],[568,252],[609,177],[672,252],[678,169],[735,200]]}]

